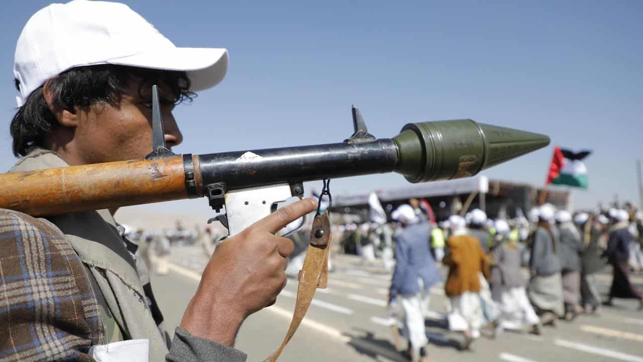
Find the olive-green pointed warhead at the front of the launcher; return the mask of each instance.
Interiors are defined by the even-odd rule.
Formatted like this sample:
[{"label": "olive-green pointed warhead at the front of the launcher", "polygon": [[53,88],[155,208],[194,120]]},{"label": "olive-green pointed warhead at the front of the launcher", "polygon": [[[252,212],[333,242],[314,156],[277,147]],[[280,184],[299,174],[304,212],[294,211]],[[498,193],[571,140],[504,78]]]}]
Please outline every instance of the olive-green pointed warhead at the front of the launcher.
[{"label": "olive-green pointed warhead at the front of the launcher", "polygon": [[410,182],[473,176],[549,144],[545,135],[470,119],[407,124],[393,140],[399,157],[395,171]]}]

